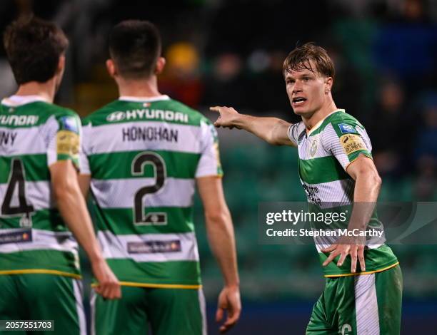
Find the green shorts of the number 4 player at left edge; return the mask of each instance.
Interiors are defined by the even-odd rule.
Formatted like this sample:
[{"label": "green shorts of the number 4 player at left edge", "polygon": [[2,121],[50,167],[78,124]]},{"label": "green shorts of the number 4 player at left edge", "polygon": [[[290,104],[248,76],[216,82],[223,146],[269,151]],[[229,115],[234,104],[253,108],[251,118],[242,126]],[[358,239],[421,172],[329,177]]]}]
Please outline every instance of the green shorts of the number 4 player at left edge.
[{"label": "green shorts of the number 4 player at left edge", "polygon": [[[0,320],[54,320],[54,331],[39,335],[86,335],[79,279],[56,274],[0,275]],[[0,331],[19,335],[26,331]]]}]

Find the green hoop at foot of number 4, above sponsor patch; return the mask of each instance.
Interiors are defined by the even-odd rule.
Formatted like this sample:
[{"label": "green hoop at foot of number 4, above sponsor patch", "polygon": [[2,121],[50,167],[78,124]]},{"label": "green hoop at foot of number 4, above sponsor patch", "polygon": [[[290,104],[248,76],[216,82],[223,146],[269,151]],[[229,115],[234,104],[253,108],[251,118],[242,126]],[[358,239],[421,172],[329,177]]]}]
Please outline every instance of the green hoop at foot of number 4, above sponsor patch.
[{"label": "green hoop at foot of number 4, above sponsor patch", "polygon": [[[4,229],[20,227],[21,215],[16,217],[0,217],[0,227]],[[32,228],[51,232],[66,232],[67,228],[57,209],[37,210],[31,215]],[[0,230],[1,231],[1,230]]]}]

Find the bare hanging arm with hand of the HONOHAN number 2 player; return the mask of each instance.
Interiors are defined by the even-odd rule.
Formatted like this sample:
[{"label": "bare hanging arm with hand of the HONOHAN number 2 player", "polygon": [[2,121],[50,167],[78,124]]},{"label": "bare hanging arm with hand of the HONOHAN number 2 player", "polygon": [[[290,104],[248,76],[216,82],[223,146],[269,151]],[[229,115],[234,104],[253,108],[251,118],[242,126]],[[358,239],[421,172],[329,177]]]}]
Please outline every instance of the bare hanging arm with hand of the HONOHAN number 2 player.
[{"label": "bare hanging arm with hand of the HONOHAN number 2 player", "polygon": [[209,244],[218,261],[225,284],[218,297],[216,312],[216,321],[221,321],[224,310],[227,311],[226,321],[220,326],[220,331],[224,333],[236,324],[241,312],[232,219],[223,195],[220,177],[199,177],[197,187],[204,205]]}]

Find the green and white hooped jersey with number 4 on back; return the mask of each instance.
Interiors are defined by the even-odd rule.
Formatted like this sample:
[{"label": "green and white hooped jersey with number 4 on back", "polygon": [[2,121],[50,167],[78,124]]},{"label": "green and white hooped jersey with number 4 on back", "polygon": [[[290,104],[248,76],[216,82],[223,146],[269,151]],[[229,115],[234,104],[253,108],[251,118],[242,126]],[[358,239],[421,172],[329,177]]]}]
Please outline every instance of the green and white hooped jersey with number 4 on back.
[{"label": "green and white hooped jersey with number 4 on back", "polygon": [[49,166],[79,169],[81,123],[72,110],[39,96],[0,105],[0,274],[79,278],[78,245],[54,202]]}]

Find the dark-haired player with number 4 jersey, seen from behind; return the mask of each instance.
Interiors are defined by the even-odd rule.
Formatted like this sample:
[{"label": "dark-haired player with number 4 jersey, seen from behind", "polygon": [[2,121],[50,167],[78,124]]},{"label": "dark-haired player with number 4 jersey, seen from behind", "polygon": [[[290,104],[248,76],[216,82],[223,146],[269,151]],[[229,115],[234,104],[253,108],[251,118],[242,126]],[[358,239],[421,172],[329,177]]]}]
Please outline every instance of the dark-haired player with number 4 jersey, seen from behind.
[{"label": "dark-haired player with number 4 jersey, seen from behind", "polygon": [[68,40],[31,18],[8,26],[4,46],[19,88],[0,104],[0,319],[54,320],[46,334],[86,334],[74,237],[96,291],[113,299],[120,287],[79,188],[79,117],[53,104]]}]

